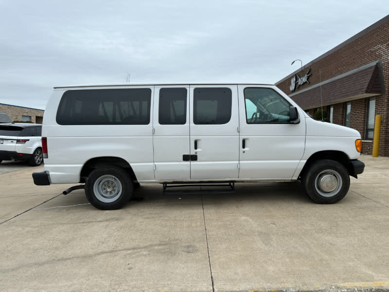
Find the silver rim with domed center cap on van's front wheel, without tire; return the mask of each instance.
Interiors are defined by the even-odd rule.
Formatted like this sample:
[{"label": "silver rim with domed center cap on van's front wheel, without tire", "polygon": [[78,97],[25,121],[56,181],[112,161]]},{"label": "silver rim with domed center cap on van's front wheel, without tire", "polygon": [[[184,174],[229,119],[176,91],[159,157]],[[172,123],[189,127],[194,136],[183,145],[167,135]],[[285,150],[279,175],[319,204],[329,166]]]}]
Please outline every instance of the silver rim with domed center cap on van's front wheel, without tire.
[{"label": "silver rim with domed center cap on van's front wheel, without tire", "polygon": [[342,177],[333,169],[321,171],[315,180],[315,188],[321,196],[333,197],[342,187]]}]

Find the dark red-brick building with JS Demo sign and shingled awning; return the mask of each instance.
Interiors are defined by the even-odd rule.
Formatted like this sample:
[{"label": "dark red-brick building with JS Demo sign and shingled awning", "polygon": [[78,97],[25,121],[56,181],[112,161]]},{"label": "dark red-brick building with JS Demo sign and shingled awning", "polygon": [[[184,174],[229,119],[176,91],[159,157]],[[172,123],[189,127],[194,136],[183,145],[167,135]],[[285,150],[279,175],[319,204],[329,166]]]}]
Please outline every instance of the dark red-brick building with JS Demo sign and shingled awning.
[{"label": "dark red-brick building with JS Demo sign and shingled awning", "polygon": [[[300,60],[299,60],[300,64]],[[362,136],[362,153],[372,153],[374,117],[381,115],[379,155],[389,156],[389,15],[276,83],[315,116]]]}]

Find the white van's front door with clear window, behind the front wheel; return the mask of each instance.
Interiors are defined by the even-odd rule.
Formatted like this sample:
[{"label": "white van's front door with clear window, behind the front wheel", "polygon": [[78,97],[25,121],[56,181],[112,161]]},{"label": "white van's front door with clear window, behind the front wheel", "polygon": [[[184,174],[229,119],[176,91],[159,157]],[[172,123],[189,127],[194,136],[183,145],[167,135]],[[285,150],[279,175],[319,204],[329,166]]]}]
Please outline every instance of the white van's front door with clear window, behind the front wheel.
[{"label": "white van's front door with clear window, behind the front wheel", "polygon": [[290,103],[281,92],[239,85],[240,179],[291,180],[304,154],[305,118],[289,118]]}]

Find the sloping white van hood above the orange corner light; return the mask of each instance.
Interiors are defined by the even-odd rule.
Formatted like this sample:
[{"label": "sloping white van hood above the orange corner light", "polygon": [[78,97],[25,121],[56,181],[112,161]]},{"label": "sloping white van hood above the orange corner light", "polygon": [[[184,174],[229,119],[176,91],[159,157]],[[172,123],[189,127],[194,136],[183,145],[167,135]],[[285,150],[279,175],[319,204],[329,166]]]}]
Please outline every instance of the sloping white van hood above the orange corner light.
[{"label": "sloping white van hood above the orange corner light", "polygon": [[307,136],[361,138],[361,134],[353,128],[317,121],[310,117],[305,118],[305,121],[307,127]]}]

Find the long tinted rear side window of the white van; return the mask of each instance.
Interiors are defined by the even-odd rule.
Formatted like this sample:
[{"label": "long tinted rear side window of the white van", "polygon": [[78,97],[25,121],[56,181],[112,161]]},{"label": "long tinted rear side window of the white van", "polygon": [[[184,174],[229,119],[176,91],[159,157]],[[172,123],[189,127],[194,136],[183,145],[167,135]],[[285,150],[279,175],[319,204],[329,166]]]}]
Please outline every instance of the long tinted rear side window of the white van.
[{"label": "long tinted rear side window of the white van", "polygon": [[59,125],[148,125],[151,89],[66,91],[59,103]]}]

